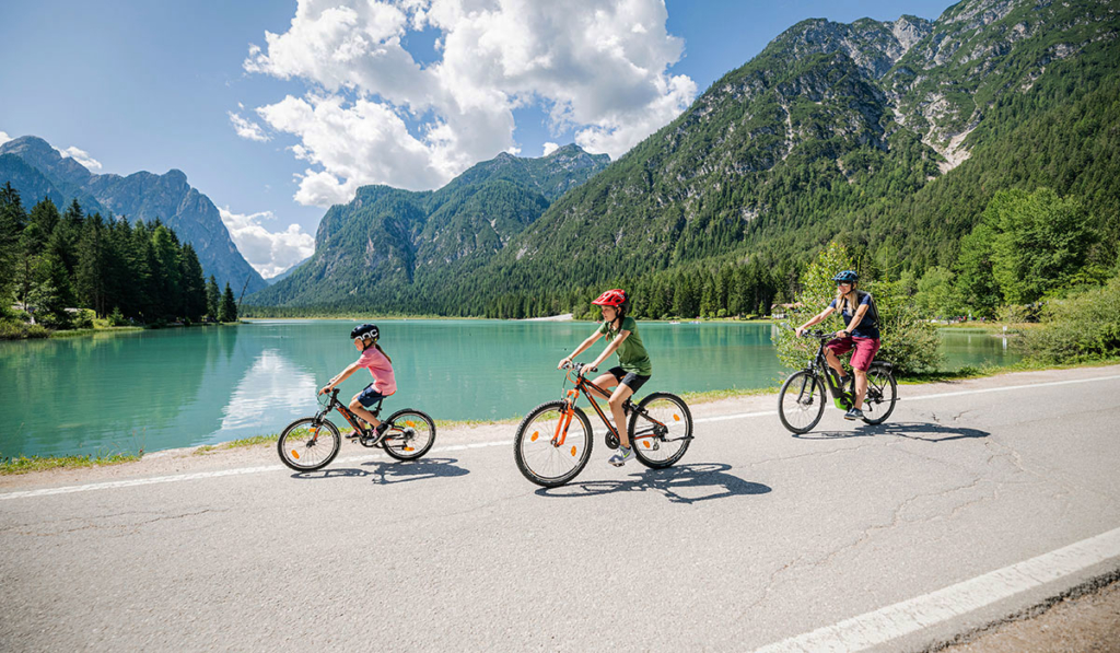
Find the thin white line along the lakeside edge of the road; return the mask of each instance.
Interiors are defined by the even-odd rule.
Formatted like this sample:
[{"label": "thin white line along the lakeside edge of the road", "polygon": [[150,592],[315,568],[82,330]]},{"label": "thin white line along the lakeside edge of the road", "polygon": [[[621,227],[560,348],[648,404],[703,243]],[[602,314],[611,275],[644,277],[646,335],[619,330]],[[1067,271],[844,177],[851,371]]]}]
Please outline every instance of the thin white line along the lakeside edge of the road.
[{"label": "thin white line along the lakeside edge of the road", "polygon": [[[1120,374],[1113,376],[1096,376],[1093,379],[1071,379],[1068,381],[1049,381],[1046,383],[1033,383],[1028,385],[1007,385],[1004,388],[986,388],[983,390],[963,390],[959,392],[942,392],[940,394],[923,394],[920,397],[899,398],[898,401],[921,401],[925,399],[941,399],[944,397],[961,397],[964,394],[984,394],[988,392],[1006,392],[1011,390],[1030,390],[1035,388],[1049,388],[1054,385],[1070,385],[1073,383],[1092,383],[1094,381],[1114,381],[1120,379]],[[734,414],[721,414],[713,417],[702,417],[693,420],[693,423],[709,423],[719,422],[737,419],[749,419],[755,417],[773,417],[776,416],[776,410],[762,411],[762,412],[740,412]],[[447,447],[436,447],[432,453],[447,453],[447,451],[464,451],[467,449],[477,449],[483,447],[503,447],[510,446],[513,440],[500,440],[493,442],[476,442],[470,445],[450,445]],[[339,458],[339,463],[353,463],[360,460],[377,460],[385,458],[384,455],[380,456],[351,456],[346,458]],[[7,492],[0,493],[0,501],[8,501],[12,498],[28,498],[34,496],[49,496],[54,494],[71,494],[74,492],[91,492],[95,489],[112,489],[115,487],[134,487],[138,485],[153,485],[157,483],[176,483],[179,481],[195,481],[198,478],[217,478],[222,476],[237,476],[242,474],[256,474],[259,472],[277,472],[283,470],[287,467],[281,465],[269,465],[264,467],[244,467],[240,469],[223,469],[220,472],[198,472],[195,474],[179,474],[176,476],[155,476],[151,478],[134,478],[130,481],[113,481],[109,483],[90,483],[86,485],[72,485],[67,487],[48,487],[44,489],[28,489],[21,492]]]}]

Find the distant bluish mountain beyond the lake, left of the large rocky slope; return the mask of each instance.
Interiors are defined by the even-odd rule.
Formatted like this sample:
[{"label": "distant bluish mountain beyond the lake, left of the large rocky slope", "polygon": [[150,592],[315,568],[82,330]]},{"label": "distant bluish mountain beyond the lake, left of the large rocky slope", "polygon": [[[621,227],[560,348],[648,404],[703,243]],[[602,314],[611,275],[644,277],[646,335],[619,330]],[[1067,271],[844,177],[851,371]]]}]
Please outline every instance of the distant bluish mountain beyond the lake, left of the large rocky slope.
[{"label": "distant bluish mountain beyond the lake, left of the large rocky slope", "polygon": [[363,186],[323,217],[308,261],[246,301],[423,306],[447,278],[476,272],[608,162],[566,146],[536,159],[501,153],[438,190]]}]

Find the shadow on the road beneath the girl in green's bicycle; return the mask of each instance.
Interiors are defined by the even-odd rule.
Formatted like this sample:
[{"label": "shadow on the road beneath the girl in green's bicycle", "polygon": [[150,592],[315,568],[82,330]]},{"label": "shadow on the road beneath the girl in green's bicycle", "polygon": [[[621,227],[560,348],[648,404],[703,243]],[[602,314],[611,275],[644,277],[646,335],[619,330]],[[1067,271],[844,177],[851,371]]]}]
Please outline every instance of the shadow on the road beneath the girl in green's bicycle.
[{"label": "shadow on the road beneath the girl in green's bicycle", "polygon": [[692,504],[713,498],[771,492],[766,485],[727,474],[730,468],[730,465],[720,463],[693,463],[665,469],[644,469],[641,474],[633,474],[633,481],[569,483],[561,487],[542,487],[536,494],[549,497],[577,497],[654,491],[664,494],[672,503]]}]

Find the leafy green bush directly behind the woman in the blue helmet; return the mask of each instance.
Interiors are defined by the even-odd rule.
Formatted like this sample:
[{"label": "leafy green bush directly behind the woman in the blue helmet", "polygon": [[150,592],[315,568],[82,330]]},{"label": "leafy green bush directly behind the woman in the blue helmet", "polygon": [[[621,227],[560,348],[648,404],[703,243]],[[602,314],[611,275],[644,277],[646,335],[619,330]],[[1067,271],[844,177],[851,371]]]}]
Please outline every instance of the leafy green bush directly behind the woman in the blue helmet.
[{"label": "leafy green bush directly behind the woman in the blue helmet", "polygon": [[[856,269],[856,261],[848,249],[832,242],[801,276],[801,292],[794,304],[802,306],[792,308],[785,319],[778,320],[780,328],[775,332],[778,361],[783,365],[801,367],[813,357],[816,341],[797,338],[793,329],[824,310],[832,301],[836,297],[832,277],[837,272]],[[881,346],[875,355],[876,360],[894,363],[897,375],[935,371],[941,364],[937,329],[920,317],[913,298],[906,292],[907,284],[903,281],[884,280],[861,282],[859,288],[871,293],[879,312]],[[843,328],[843,318],[839,312],[833,312],[814,328],[839,330]]]}]

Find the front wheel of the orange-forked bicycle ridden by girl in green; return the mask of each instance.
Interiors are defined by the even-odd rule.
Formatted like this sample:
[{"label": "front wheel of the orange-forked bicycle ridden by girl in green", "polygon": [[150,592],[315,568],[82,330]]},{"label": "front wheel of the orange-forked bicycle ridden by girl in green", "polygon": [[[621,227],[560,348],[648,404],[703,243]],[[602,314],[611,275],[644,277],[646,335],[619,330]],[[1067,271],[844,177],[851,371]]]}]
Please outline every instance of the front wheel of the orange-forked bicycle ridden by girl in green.
[{"label": "front wheel of the orange-forked bicycle ridden by girl in green", "polygon": [[[534,408],[517,427],[514,459],[525,478],[543,487],[557,487],[575,478],[591,457],[591,422],[587,413],[562,401]],[[570,420],[570,421],[569,421]],[[567,423],[567,429],[561,427]]]}]

